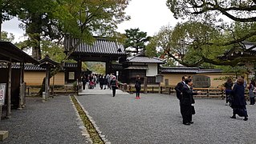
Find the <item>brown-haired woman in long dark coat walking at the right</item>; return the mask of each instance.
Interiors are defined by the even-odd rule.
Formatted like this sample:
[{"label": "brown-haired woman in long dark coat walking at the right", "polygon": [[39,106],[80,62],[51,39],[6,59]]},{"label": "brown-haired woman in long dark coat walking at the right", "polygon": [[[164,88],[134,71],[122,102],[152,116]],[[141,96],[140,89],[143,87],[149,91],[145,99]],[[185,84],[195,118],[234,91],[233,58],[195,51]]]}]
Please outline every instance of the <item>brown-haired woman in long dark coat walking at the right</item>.
[{"label": "brown-haired woman in long dark coat walking at the right", "polygon": [[233,102],[231,102],[231,107],[233,109],[233,116],[230,118],[236,118],[236,114],[240,117],[245,117],[243,120],[248,120],[247,110],[246,110],[246,98],[245,98],[245,87],[243,86],[243,78],[238,78],[237,83],[234,85],[231,91],[234,97]]}]

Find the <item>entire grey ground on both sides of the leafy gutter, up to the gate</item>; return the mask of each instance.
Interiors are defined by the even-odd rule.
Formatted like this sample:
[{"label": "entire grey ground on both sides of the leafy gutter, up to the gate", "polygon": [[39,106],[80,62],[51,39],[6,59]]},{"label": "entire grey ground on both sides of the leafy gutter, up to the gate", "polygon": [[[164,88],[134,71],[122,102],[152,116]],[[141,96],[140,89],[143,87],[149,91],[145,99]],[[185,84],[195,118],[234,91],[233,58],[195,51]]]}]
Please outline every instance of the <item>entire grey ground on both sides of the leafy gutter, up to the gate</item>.
[{"label": "entire grey ground on both sides of the leafy gutter, up to the gate", "polygon": [[[135,94],[97,90],[76,98],[108,142],[124,143],[256,143],[256,106],[247,106],[249,120],[231,119],[232,110],[221,99],[196,99],[193,125],[182,124],[175,95]],[[248,102],[249,103],[249,102]],[[43,103],[26,98],[26,108],[12,110],[0,122],[9,138],[0,143],[89,143],[69,96]],[[83,133],[82,133],[83,131]],[[82,135],[83,134],[83,135]]]}]

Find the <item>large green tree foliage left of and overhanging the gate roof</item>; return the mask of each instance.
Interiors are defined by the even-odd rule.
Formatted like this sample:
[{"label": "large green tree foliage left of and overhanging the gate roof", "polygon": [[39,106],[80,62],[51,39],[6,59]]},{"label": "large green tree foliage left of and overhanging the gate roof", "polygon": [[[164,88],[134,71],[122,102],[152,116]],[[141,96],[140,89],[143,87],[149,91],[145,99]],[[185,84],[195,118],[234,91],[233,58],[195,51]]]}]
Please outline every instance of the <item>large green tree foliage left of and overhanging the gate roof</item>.
[{"label": "large green tree foliage left of and overhanging the gate roof", "polygon": [[33,47],[35,58],[40,59],[42,40],[62,41],[68,36],[79,38],[79,42],[90,43],[94,40],[93,34],[113,35],[116,25],[128,19],[124,14],[128,1],[22,0],[22,12],[18,14],[18,18],[22,20],[22,27],[29,37],[27,45]]}]

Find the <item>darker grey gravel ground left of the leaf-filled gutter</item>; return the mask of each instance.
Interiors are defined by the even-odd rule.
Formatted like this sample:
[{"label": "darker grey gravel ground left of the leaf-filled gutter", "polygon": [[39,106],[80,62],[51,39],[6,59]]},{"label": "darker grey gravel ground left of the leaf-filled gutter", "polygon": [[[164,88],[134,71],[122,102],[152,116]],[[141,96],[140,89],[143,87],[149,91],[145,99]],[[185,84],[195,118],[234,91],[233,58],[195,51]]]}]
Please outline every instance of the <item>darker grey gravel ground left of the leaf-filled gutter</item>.
[{"label": "darker grey gravel ground left of the leaf-filled gutter", "polygon": [[26,108],[11,112],[11,118],[0,122],[0,130],[9,130],[9,138],[0,143],[89,143],[69,96],[47,103],[26,98]]}]

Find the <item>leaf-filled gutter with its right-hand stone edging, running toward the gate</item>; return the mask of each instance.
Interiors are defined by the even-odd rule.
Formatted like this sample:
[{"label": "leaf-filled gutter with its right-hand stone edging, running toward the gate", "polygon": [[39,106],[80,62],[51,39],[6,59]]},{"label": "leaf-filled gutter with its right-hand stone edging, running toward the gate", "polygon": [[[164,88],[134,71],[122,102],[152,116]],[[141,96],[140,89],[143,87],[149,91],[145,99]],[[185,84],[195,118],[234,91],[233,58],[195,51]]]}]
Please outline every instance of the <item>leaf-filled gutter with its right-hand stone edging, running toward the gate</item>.
[{"label": "leaf-filled gutter with its right-hand stone edging, running toward the gate", "polygon": [[108,139],[101,134],[102,132],[100,131],[99,127],[96,126],[95,121],[93,118],[91,118],[91,116],[89,116],[88,112],[83,108],[78,99],[75,96],[71,96],[71,100],[75,104],[75,108],[78,111],[78,114],[82,119],[83,125],[86,127],[88,134],[90,135],[91,141],[99,144],[110,144],[111,142],[108,142]]}]

